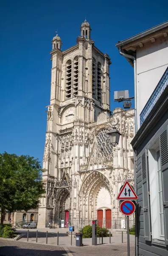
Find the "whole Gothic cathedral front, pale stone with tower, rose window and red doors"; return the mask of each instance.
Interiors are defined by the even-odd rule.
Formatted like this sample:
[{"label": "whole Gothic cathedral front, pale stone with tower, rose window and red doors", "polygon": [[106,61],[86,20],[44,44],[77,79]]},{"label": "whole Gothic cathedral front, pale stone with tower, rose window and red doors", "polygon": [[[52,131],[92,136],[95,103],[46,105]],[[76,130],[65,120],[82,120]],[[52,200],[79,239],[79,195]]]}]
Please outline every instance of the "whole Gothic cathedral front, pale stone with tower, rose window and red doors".
[{"label": "whole Gothic cathedral front, pale stone with tower, rose window and red doors", "polygon": [[[133,183],[134,110],[109,110],[110,58],[95,47],[87,20],[77,44],[62,51],[52,40],[51,93],[43,159],[45,198],[38,227],[81,227],[93,219],[111,228],[120,220],[118,195],[127,179]],[[116,126],[120,142],[112,147],[108,131]]]}]

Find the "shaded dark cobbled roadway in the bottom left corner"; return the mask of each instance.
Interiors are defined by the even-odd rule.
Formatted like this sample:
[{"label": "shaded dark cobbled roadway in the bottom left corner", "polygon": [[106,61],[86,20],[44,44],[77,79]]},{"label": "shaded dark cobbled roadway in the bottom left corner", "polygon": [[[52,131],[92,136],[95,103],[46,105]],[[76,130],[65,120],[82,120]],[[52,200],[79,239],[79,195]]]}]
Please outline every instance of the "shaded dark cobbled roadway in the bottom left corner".
[{"label": "shaded dark cobbled roadway in the bottom left corner", "polygon": [[0,239],[0,256],[68,256],[68,254],[60,246]]}]

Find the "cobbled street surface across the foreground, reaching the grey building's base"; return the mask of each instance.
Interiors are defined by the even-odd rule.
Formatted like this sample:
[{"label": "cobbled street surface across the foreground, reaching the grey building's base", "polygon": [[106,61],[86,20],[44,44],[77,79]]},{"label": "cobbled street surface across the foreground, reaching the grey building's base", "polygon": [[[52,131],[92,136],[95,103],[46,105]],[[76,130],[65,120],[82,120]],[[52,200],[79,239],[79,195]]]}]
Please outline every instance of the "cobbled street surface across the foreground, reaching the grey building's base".
[{"label": "cobbled street surface across the foreground, reaching the grey building's base", "polygon": [[[68,253],[67,253],[68,250]],[[126,243],[101,244],[84,247],[61,247],[0,240],[0,256],[127,256]],[[130,256],[134,256],[134,243],[130,243]]]}]

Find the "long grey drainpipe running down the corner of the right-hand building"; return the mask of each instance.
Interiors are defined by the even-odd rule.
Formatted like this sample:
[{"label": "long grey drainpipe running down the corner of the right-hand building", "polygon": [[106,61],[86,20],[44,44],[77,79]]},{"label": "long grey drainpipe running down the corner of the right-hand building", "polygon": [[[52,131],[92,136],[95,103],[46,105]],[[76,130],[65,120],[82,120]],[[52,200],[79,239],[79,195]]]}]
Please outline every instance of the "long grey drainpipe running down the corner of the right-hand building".
[{"label": "long grey drainpipe running down the corner of the right-hand building", "polygon": [[[134,61],[134,111],[135,111],[135,134],[137,133],[137,62],[136,58],[132,55],[126,54],[122,52],[121,47],[119,48],[120,55],[132,59]],[[137,193],[137,157],[136,152],[134,151],[134,189]],[[135,212],[135,256],[138,256],[138,222],[137,222],[137,210],[138,207],[136,205],[136,212]]]}]

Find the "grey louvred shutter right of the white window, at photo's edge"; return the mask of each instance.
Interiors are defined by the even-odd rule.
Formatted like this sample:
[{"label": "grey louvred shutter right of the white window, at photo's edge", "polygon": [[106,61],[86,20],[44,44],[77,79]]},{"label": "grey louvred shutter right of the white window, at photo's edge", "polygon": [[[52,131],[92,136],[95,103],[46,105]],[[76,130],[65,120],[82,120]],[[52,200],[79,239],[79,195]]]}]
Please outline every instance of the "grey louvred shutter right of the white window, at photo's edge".
[{"label": "grey louvred shutter right of the white window, at photo's edge", "polygon": [[167,129],[160,135],[160,155],[161,155],[161,171],[162,171],[165,244],[168,244],[168,131]]}]

